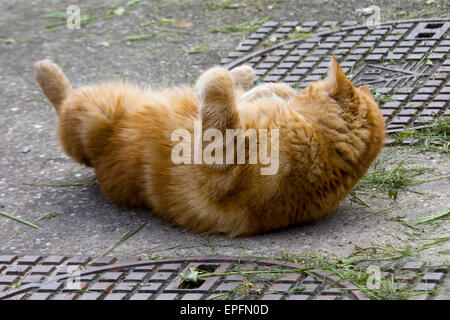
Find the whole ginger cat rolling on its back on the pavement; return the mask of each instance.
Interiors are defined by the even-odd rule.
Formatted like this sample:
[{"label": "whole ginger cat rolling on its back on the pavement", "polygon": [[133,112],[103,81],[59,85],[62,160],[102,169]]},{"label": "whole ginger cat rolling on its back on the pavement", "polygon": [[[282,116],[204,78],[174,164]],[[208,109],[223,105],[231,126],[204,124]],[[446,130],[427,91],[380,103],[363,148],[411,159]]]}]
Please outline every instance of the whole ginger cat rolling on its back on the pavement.
[{"label": "whole ginger cat rolling on its back on the pavement", "polygon": [[[328,76],[301,91],[281,83],[249,90],[248,66],[215,67],[195,88],[162,91],[123,82],[73,90],[50,60],[35,70],[59,116],[65,152],[95,169],[102,192],[198,233],[250,236],[321,218],[383,146],[384,120],[370,90],[355,88],[334,56]],[[247,162],[175,164],[172,133],[193,133],[196,121],[224,135],[278,129],[278,170],[264,175],[263,164]]]}]

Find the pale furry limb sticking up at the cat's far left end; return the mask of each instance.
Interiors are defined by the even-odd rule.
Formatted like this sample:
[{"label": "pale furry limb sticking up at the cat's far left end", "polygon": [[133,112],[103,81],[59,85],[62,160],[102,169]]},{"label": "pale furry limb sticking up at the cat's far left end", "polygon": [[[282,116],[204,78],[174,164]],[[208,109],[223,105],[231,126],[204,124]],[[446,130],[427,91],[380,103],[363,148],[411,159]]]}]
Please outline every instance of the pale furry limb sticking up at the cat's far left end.
[{"label": "pale furry limb sticking up at the cat's far left end", "polygon": [[53,104],[57,113],[64,100],[72,92],[69,79],[61,68],[49,59],[44,59],[34,64],[36,80],[47,99]]}]

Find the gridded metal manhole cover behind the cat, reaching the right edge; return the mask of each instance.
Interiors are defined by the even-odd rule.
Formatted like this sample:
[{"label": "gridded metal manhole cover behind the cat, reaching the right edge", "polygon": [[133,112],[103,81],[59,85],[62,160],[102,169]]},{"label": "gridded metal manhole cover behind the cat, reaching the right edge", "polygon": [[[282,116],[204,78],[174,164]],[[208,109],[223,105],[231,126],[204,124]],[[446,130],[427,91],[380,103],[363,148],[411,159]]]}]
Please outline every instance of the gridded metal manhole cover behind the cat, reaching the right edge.
[{"label": "gridded metal manhole cover behind the cat, reaching the right edge", "polygon": [[267,22],[221,64],[251,65],[257,82],[303,88],[323,78],[332,54],[356,84],[375,88],[386,132],[450,116],[450,20]]}]

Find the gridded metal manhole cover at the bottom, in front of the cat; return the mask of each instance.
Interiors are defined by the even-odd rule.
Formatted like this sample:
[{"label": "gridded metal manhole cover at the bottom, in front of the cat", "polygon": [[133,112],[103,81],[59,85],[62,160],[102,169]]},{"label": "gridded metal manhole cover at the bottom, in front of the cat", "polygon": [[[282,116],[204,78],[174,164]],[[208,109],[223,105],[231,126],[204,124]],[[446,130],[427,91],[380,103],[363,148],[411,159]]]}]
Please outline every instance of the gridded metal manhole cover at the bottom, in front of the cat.
[{"label": "gridded metal manhole cover at the bottom, in front of the cat", "polygon": [[[0,300],[365,300],[358,287],[319,269],[283,261],[193,257],[0,256]],[[196,283],[185,277],[201,270]],[[384,268],[398,286],[432,299],[448,272],[442,264],[407,262]],[[183,274],[185,277],[181,277]]]}]

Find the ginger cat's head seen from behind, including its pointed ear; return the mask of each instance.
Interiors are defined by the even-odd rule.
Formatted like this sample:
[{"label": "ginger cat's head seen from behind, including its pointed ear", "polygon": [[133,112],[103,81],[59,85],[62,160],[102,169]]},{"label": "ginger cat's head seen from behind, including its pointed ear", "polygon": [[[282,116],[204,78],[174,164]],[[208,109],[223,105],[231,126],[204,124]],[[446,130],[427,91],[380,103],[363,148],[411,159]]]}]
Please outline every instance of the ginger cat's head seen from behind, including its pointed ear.
[{"label": "ginger cat's head seen from behind, including its pointed ear", "polygon": [[336,57],[331,59],[327,77],[311,83],[298,92],[296,98],[299,109],[311,118],[319,119],[325,131],[326,128],[340,133],[355,130],[354,134],[344,134],[339,139],[346,136],[348,141],[352,141],[350,144],[363,146],[364,143],[357,142],[362,138],[366,148],[359,150],[364,153],[360,160],[364,167],[370,165],[383,146],[383,115],[370,89],[367,86],[355,87],[345,76]]}]

